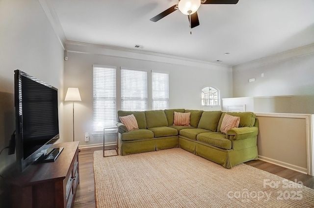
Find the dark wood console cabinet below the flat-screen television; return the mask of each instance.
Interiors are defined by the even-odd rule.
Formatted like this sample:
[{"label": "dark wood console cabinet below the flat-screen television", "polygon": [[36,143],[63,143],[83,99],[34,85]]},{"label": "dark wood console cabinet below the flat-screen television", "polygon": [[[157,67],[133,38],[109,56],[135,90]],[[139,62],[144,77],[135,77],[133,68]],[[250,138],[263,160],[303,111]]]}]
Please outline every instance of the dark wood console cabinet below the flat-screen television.
[{"label": "dark wood console cabinet below the flat-screen television", "polygon": [[10,180],[12,208],[72,208],[79,183],[78,141],[64,147],[54,162],[32,164]]}]

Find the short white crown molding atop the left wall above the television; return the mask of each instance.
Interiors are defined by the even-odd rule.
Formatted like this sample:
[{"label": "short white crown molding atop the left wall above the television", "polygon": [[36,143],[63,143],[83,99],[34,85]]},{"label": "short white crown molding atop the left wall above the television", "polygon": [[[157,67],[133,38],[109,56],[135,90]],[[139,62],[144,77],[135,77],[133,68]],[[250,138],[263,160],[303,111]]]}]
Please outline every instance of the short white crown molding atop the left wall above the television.
[{"label": "short white crown molding atop the left wall above the television", "polygon": [[52,6],[52,3],[50,2],[50,0],[38,0],[38,1],[41,7],[43,8],[49,22],[51,23],[52,29],[54,30],[54,33],[59,39],[61,46],[63,47],[63,49],[65,49],[65,42],[67,39],[65,37],[59,18]]}]

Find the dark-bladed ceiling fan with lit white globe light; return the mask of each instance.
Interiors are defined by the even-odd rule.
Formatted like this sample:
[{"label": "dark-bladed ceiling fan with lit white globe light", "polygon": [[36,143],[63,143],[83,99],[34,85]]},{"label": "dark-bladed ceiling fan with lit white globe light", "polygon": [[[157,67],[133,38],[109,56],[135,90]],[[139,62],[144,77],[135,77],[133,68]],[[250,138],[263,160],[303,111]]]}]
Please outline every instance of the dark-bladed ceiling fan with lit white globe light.
[{"label": "dark-bladed ceiling fan with lit white globe light", "polygon": [[239,0],[179,0],[179,3],[173,5],[169,9],[156,15],[150,21],[157,22],[165,16],[171,14],[176,10],[180,10],[183,14],[188,15],[190,28],[200,25],[197,16],[197,10],[201,4],[236,4]]}]

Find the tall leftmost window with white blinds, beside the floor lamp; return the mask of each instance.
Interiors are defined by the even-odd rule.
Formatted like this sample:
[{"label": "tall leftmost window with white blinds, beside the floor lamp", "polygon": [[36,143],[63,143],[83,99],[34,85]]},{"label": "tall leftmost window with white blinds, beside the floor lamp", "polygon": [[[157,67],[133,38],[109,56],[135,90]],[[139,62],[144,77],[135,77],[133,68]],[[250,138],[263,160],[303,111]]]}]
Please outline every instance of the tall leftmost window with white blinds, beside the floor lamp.
[{"label": "tall leftmost window with white blinds, beside the floor lamp", "polygon": [[116,69],[94,67],[94,132],[116,127]]}]

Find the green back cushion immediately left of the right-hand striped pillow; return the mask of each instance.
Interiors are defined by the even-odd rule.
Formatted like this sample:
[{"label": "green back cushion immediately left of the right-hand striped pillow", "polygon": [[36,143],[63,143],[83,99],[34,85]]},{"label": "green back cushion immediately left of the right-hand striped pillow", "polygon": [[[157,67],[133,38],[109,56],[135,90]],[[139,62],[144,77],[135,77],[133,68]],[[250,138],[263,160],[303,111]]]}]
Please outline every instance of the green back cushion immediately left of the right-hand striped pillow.
[{"label": "green back cushion immediately left of the right-hand striped pillow", "polygon": [[204,111],[198,123],[198,128],[216,132],[221,114],[221,111]]}]

